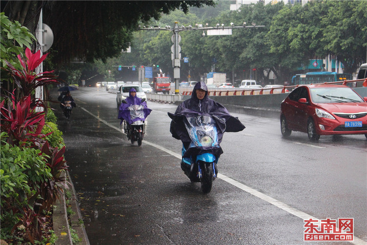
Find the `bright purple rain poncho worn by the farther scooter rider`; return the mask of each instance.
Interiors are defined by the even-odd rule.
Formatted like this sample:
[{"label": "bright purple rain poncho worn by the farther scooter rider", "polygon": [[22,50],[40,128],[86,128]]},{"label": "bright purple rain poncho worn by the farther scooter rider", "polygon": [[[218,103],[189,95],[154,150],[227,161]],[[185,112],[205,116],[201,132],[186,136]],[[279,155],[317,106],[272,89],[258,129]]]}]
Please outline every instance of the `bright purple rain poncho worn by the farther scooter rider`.
[{"label": "bright purple rain poncho worn by the farther scooter rider", "polygon": [[[151,109],[148,108],[147,103],[144,101],[142,102],[142,99],[140,99],[138,96],[132,96],[131,92],[136,92],[135,88],[131,88],[129,91],[129,97],[125,99],[125,103],[121,103],[119,111],[118,111],[118,119],[121,119],[121,123],[123,123],[124,120],[126,120],[129,124],[132,124],[135,121],[145,121],[145,119],[148,117]],[[129,107],[132,105],[142,105],[143,107],[143,114],[140,117],[134,117],[133,119],[130,116],[130,109]]]}]

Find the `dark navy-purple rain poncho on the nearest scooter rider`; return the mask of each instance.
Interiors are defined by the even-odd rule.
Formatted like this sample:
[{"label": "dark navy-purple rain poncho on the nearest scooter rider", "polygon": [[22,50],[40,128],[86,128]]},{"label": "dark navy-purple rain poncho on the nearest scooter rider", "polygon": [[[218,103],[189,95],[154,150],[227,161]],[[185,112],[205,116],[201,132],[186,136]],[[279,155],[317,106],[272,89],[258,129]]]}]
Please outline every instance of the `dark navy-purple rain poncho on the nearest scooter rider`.
[{"label": "dark navy-purple rain poncho on the nearest scooter rider", "polygon": [[[199,100],[196,96],[197,89],[205,90],[203,100]],[[191,138],[185,128],[183,117],[195,117],[198,115],[210,115],[213,117],[217,124],[218,143],[222,141],[224,132],[239,132],[245,128],[237,118],[229,114],[224,106],[209,99],[208,88],[205,82],[198,82],[193,89],[191,99],[182,102],[174,114],[168,113],[168,116],[172,119],[170,125],[172,137],[180,139],[184,144],[191,142]],[[222,151],[220,149],[220,151],[214,154],[220,155],[221,153]]]}]

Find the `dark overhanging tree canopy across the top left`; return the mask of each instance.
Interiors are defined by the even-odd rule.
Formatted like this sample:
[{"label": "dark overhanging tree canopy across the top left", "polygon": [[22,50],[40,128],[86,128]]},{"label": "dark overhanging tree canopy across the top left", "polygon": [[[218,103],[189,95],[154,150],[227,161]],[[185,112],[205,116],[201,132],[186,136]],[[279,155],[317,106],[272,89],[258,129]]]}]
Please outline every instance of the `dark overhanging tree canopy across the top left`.
[{"label": "dark overhanging tree canopy across the top left", "polygon": [[[4,10],[14,20],[17,16],[33,16],[29,29],[34,31],[41,8],[28,5],[39,2],[43,5],[43,21],[54,34],[52,50],[56,63],[75,58],[105,61],[126,50],[140,22],[159,19],[161,14],[176,9],[187,13],[191,6],[214,5],[213,1],[8,1]],[[24,15],[20,14],[22,11]]]}]

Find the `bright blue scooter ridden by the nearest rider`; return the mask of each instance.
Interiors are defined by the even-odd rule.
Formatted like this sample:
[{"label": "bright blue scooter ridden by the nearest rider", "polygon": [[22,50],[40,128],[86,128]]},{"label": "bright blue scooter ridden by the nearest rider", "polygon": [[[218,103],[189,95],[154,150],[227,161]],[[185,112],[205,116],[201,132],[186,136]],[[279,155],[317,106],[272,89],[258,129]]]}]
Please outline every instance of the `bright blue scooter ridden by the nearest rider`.
[{"label": "bright blue scooter ridden by the nearest rider", "polygon": [[213,153],[221,151],[216,122],[210,115],[198,115],[184,117],[184,123],[192,141],[187,149],[182,145],[181,168],[191,182],[201,183],[203,193],[209,193],[218,174],[219,155]]}]

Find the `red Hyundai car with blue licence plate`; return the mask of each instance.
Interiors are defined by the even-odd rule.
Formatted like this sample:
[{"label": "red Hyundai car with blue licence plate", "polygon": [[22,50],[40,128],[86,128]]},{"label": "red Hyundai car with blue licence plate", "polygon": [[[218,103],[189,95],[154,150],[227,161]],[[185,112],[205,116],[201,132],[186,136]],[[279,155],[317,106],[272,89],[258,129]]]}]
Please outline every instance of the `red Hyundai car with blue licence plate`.
[{"label": "red Hyundai car with blue licence plate", "polygon": [[295,88],[281,103],[280,129],[320,135],[364,134],[367,138],[367,97],[345,85],[314,84]]}]

